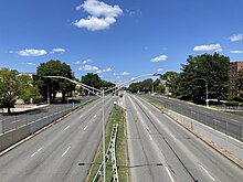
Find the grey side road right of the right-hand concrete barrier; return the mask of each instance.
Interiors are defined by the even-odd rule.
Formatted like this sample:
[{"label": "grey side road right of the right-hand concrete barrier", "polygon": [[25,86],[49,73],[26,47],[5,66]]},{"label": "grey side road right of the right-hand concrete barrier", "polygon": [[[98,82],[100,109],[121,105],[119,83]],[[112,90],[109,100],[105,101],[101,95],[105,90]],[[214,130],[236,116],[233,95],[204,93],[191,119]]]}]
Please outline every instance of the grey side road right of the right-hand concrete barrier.
[{"label": "grey side road right of the right-hand concrete barrier", "polygon": [[192,119],[204,122],[220,131],[231,133],[237,139],[243,140],[243,118],[236,115],[225,114],[223,111],[209,109],[205,107],[187,104],[176,99],[166,97],[157,97],[145,95],[152,100],[161,103],[166,108],[180,113]]}]

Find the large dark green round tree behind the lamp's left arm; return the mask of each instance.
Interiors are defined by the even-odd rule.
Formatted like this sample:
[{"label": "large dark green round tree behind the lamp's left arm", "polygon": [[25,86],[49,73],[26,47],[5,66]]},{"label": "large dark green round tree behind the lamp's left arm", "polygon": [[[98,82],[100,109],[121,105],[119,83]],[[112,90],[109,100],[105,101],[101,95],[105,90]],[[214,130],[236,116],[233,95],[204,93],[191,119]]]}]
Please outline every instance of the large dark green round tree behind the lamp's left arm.
[{"label": "large dark green round tree behind the lamp's left arm", "polygon": [[[47,93],[50,93],[51,101],[55,101],[57,92],[62,93],[62,100],[65,100],[65,96],[68,92],[75,90],[75,85],[65,79],[57,78],[44,78],[44,76],[63,76],[70,79],[74,79],[71,66],[66,63],[61,63],[59,60],[51,60],[46,63],[41,63],[38,67],[38,86],[41,90],[43,98],[47,99]],[[47,92],[49,89],[49,92]]]}]

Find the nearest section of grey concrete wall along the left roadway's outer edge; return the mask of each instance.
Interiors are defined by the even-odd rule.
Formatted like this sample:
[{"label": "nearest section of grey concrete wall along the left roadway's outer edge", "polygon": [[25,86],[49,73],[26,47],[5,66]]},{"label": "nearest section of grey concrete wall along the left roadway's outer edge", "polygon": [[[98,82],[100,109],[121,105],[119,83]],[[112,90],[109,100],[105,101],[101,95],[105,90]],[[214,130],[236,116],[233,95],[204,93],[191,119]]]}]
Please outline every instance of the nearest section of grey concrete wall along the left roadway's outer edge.
[{"label": "nearest section of grey concrete wall along the left roadway's outer edge", "polygon": [[30,135],[30,127],[23,126],[15,130],[6,132],[0,136],[0,151],[7,149],[8,147],[14,144],[15,142],[22,140]]}]

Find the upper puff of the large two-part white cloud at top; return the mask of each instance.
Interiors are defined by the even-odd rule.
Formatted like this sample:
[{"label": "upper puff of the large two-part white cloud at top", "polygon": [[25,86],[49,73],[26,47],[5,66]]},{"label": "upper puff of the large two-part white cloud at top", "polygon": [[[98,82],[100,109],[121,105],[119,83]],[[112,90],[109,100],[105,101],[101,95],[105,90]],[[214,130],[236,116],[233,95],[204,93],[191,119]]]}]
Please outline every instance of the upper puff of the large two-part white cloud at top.
[{"label": "upper puff of the large two-part white cloud at top", "polygon": [[84,9],[87,13],[94,17],[118,17],[123,13],[119,6],[109,6],[98,0],[86,0],[83,4],[78,6],[76,10]]}]

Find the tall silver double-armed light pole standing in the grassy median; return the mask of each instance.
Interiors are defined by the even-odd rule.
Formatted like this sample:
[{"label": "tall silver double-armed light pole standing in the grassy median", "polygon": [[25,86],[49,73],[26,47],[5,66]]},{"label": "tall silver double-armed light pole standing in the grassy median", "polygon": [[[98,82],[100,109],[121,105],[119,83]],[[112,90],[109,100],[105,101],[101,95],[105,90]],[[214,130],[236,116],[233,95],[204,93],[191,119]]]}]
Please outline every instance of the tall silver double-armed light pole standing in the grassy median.
[{"label": "tall silver double-armed light pole standing in the grassy median", "polygon": [[[134,77],[131,78],[130,81],[128,82],[125,82],[125,83],[122,83],[120,85],[118,86],[115,86],[113,88],[108,88],[106,90],[104,89],[97,89],[97,88],[94,88],[92,86],[88,86],[88,85],[85,85],[83,83],[80,83],[80,82],[76,82],[76,81],[73,81],[73,79],[70,79],[67,77],[64,77],[64,76],[44,76],[46,78],[60,78],[60,79],[66,79],[66,81],[70,81],[76,85],[81,85],[82,88],[91,92],[92,94],[98,96],[99,98],[102,98],[102,105],[103,105],[103,116],[102,116],[102,135],[103,135],[103,181],[106,182],[106,154],[105,154],[105,93],[106,92],[109,92],[114,88],[117,88],[117,89],[120,89],[122,87],[124,87],[125,85],[127,84],[130,84],[133,83],[134,81],[138,79],[138,78],[141,78],[141,77],[147,77],[147,76],[159,76],[158,74],[145,74],[145,75],[140,75],[140,76],[137,76],[137,77]],[[92,90],[93,89],[93,90]],[[96,92],[98,92],[99,94],[97,94]]]}]

